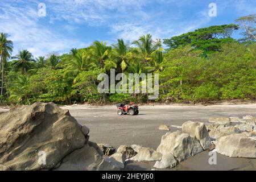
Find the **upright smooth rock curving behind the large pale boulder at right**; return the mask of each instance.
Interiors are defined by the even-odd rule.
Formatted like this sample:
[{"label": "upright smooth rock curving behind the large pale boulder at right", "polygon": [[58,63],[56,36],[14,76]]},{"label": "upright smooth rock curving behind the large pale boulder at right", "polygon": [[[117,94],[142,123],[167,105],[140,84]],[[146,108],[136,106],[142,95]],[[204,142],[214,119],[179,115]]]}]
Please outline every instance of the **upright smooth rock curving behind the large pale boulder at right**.
[{"label": "upright smooth rock curving behind the large pale boulder at right", "polygon": [[210,147],[210,136],[204,123],[187,121],[182,125],[182,132],[189,134],[191,137],[196,137],[200,141],[203,150]]}]

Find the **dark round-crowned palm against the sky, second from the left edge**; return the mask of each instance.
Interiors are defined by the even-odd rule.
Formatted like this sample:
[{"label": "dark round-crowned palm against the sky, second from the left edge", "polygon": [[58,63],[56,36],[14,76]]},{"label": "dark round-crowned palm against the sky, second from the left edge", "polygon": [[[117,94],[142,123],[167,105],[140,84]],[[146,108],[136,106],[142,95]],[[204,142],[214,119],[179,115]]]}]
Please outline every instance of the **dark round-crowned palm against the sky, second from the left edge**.
[{"label": "dark round-crowned palm against the sky, second from the left edge", "polygon": [[16,69],[21,69],[22,75],[26,74],[28,69],[32,68],[35,62],[32,53],[28,50],[23,49],[19,51],[18,55],[14,57],[13,65]]}]

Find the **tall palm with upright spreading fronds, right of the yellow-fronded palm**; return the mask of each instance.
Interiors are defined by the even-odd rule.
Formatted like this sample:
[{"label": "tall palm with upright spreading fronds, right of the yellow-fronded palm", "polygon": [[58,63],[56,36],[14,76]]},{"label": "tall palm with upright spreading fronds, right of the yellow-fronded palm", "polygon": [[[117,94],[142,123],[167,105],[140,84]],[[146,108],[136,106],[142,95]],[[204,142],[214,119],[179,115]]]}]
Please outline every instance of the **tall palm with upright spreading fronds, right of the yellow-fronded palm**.
[{"label": "tall palm with upright spreading fronds, right of the yellow-fronded palm", "polygon": [[156,42],[154,42],[150,34],[142,35],[138,40],[135,40],[133,44],[139,48],[142,61],[146,66],[151,60],[151,54],[157,51],[161,46],[160,40],[157,39]]}]

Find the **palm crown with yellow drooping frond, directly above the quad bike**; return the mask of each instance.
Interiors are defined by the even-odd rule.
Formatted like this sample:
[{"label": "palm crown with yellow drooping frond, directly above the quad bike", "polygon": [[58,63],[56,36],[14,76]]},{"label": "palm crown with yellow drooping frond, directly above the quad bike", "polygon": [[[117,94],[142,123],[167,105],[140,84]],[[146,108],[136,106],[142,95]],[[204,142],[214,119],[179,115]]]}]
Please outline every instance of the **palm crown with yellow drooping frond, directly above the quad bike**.
[{"label": "palm crown with yellow drooping frond, directly above the quad bike", "polygon": [[130,52],[129,45],[123,42],[123,39],[118,39],[117,41],[118,43],[113,45],[112,55],[118,60],[117,64],[123,72],[129,65],[128,59],[132,56],[132,52]]}]

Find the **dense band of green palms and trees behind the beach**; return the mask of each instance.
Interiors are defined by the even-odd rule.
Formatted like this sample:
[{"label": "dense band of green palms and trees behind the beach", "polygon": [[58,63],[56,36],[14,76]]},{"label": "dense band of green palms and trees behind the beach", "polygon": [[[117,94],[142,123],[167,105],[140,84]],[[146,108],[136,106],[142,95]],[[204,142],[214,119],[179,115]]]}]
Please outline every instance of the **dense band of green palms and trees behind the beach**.
[{"label": "dense band of green palms and trees behind the beach", "polygon": [[[95,41],[89,47],[35,60],[24,49],[7,61],[13,43],[7,34],[1,33],[1,98],[5,104],[148,102],[146,93],[100,94],[98,75],[109,75],[114,68],[116,75],[159,73],[159,97],[155,102],[255,99],[256,43],[250,24],[254,17],[238,19],[240,26],[210,26],[165,39],[169,47],[165,50],[160,39],[147,34],[132,44],[123,39],[112,46]],[[243,32],[243,40],[232,38],[238,28]]]}]

